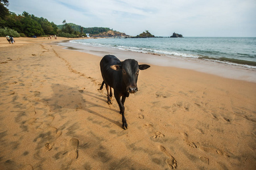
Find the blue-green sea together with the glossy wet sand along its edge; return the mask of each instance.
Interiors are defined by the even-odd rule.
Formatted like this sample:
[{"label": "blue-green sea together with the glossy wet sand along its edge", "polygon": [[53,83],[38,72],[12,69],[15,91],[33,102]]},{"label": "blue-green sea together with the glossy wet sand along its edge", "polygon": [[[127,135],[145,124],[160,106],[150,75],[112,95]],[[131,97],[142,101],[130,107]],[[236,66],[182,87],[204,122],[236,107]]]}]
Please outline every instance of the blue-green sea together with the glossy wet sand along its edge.
[{"label": "blue-green sea together with the glossy wet sand along its edge", "polygon": [[[121,61],[133,58],[139,63],[179,67],[256,83],[254,37],[80,39],[58,44],[96,57],[112,54]],[[81,64],[83,62],[86,61]]]}]

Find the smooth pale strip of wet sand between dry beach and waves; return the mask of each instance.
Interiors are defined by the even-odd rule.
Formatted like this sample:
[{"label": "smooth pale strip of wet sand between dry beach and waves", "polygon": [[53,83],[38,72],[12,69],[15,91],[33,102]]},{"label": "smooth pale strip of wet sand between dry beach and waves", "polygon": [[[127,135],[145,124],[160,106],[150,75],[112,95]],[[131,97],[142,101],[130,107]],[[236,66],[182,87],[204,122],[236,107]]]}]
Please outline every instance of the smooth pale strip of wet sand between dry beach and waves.
[{"label": "smooth pale strip of wet sand between dry beach and waves", "polygon": [[155,54],[138,53],[131,51],[118,50],[108,47],[99,47],[91,45],[74,44],[72,42],[58,42],[60,46],[64,46],[69,50],[78,50],[80,52],[89,53],[98,57],[103,57],[104,54],[113,54],[119,59],[134,58],[138,62],[143,62],[151,65],[176,67],[181,69],[195,70],[201,73],[218,75],[224,78],[237,80],[246,80],[256,83],[256,70],[243,66],[229,65],[220,62],[206,61],[193,58],[170,58],[167,56],[158,56]]}]

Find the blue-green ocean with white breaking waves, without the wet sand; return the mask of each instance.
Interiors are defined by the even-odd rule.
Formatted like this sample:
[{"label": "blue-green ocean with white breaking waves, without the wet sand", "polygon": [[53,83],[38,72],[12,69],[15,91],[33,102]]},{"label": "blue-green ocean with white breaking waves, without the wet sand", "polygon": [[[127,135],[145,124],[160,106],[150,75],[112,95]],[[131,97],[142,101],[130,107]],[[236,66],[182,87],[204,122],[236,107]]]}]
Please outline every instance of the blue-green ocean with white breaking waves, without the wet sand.
[{"label": "blue-green ocean with white breaking waves, without the wet sand", "polygon": [[[109,38],[71,40],[74,46],[110,48],[176,59],[256,69],[256,37]],[[159,58],[160,59],[160,58]]]}]

